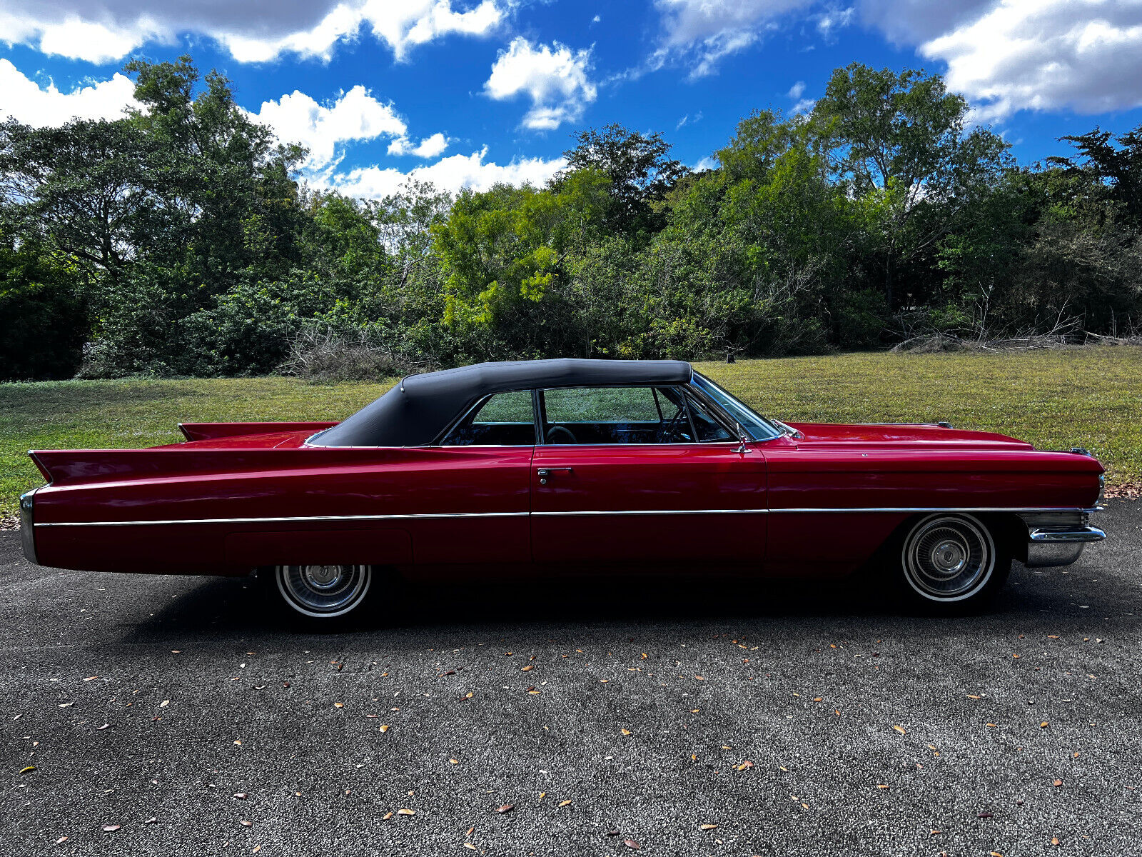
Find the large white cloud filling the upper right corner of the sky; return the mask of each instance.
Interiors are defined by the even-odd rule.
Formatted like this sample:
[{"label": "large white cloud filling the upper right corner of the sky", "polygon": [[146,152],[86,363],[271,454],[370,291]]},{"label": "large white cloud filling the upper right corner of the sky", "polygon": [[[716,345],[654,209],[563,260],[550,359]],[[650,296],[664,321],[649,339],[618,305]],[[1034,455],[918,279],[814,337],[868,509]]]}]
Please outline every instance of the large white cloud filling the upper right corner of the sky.
[{"label": "large white cloud filling the upper right corner of the sky", "polygon": [[987,121],[1018,110],[1101,113],[1142,105],[1142,2],[1002,0],[925,41],[948,87]]}]

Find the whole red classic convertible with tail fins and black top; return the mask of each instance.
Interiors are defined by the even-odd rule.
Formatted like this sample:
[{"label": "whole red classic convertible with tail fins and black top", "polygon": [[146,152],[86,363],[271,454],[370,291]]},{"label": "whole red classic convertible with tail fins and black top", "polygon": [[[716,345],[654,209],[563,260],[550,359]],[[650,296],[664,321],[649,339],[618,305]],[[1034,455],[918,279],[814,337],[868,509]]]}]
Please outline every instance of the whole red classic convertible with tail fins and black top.
[{"label": "whole red classic convertible with tail fins and black top", "polygon": [[1083,449],[922,425],[766,419],[679,361],[413,375],[341,423],[209,423],[150,449],[32,451],[32,562],[246,575],[321,623],[386,575],[616,569],[883,584],[975,603],[1012,560],[1073,562],[1101,500]]}]

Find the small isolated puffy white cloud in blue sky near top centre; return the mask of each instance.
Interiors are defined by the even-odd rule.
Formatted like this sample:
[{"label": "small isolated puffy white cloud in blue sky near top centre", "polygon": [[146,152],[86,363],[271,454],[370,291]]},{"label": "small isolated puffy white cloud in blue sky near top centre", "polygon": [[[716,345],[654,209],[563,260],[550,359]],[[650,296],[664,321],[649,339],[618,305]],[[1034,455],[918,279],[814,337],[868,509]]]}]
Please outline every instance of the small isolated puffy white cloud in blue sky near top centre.
[{"label": "small isolated puffy white cloud in blue sky near top centre", "polygon": [[484,91],[497,101],[526,94],[531,110],[523,118],[523,126],[552,130],[563,122],[577,121],[586,105],[595,101],[596,88],[587,77],[589,70],[590,50],[572,51],[558,42],[537,49],[517,37],[496,57]]}]

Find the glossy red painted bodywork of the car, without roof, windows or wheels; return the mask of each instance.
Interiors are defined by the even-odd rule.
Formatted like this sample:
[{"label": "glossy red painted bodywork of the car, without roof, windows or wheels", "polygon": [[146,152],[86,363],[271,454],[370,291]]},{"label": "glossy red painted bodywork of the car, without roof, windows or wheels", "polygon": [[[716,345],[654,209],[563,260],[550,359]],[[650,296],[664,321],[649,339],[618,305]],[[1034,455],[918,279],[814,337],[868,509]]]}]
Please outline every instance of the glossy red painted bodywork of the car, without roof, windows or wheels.
[{"label": "glossy red painted bodywork of the car, without roof, windows or wheels", "polygon": [[185,443],[32,452],[50,482],[34,498],[38,561],[222,575],[279,563],[423,577],[637,563],[835,576],[924,510],[1086,510],[1102,473],[1086,455],[926,425],[796,424],[797,435],[747,451],[306,443],[331,425],[186,424]]}]

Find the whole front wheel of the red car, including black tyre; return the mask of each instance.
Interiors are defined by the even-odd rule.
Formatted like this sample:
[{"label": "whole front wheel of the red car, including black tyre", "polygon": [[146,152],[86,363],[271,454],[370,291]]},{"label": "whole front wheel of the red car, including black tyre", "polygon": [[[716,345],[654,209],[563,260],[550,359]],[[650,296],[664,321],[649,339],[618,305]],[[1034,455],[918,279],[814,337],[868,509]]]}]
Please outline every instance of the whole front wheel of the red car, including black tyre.
[{"label": "whole front wheel of the red car, including black tyre", "polygon": [[1003,587],[1011,556],[974,515],[938,513],[917,521],[900,552],[901,587],[914,606],[955,612]]}]

